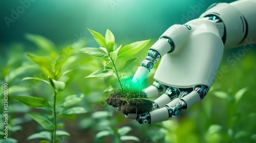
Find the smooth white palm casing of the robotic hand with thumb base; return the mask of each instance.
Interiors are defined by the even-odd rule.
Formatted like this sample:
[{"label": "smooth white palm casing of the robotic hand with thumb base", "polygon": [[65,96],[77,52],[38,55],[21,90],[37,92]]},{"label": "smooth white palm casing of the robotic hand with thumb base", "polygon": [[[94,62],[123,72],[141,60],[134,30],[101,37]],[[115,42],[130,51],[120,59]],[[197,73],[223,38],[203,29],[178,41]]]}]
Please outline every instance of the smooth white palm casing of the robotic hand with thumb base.
[{"label": "smooth white palm casing of the robotic hand with thumb base", "polygon": [[[162,57],[154,79],[172,87],[194,88],[197,85],[206,85],[210,88],[222,59],[224,45],[219,29],[223,25],[206,19],[191,20],[186,25],[191,30],[183,26],[186,31],[177,30],[182,28],[174,25],[161,36],[173,39],[175,50]],[[177,35],[180,37],[174,37]]]}]

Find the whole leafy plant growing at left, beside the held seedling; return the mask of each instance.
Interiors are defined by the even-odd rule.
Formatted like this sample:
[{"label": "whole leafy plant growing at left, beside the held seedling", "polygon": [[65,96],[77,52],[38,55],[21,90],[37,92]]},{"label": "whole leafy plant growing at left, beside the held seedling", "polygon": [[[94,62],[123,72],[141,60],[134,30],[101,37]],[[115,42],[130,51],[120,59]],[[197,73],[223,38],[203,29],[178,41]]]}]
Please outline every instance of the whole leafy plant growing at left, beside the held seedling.
[{"label": "whole leafy plant growing at left, beside the held seedling", "polygon": [[[68,72],[61,73],[61,67],[67,60],[69,54],[72,52],[72,48],[68,47],[60,52],[59,56],[55,60],[48,58],[37,58],[32,55],[28,55],[35,63],[37,63],[45,75],[48,76],[48,81],[37,77],[26,77],[24,80],[39,80],[47,83],[53,88],[52,101],[48,102],[45,98],[33,97],[33,96],[18,96],[14,100],[19,101],[29,107],[41,109],[41,114],[30,112],[30,115],[36,122],[38,122],[46,131],[41,131],[30,135],[27,139],[41,138],[44,139],[41,142],[59,142],[58,137],[70,136],[70,134],[62,129],[61,123],[57,122],[60,115],[71,115],[86,113],[86,109],[83,107],[72,107],[80,102],[83,98],[83,94],[74,94],[68,96],[63,100],[62,104],[57,106],[57,95],[60,91],[65,89],[66,84],[59,81],[59,78]],[[52,103],[52,104],[51,104]],[[44,115],[42,115],[44,114]]]}]

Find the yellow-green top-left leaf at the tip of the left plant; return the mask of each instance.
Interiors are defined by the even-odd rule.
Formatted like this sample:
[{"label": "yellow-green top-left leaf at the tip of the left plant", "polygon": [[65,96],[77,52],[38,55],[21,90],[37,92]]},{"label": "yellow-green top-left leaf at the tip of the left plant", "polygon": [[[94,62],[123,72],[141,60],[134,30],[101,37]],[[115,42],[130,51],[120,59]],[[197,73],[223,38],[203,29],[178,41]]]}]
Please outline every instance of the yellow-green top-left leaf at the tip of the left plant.
[{"label": "yellow-green top-left leaf at the tip of the left plant", "polygon": [[51,61],[48,58],[36,58],[28,54],[28,56],[39,65],[41,71],[49,76],[51,79],[54,79],[54,74],[52,71]]}]

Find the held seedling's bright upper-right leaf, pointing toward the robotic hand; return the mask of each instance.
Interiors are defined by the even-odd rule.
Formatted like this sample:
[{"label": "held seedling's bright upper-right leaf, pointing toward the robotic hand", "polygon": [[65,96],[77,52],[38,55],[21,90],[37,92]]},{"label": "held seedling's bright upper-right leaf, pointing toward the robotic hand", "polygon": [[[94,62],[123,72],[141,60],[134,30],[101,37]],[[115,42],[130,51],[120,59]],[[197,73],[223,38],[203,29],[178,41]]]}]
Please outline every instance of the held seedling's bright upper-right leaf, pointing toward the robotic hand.
[{"label": "held seedling's bright upper-right leaf, pointing toward the robotic hand", "polygon": [[118,51],[117,57],[119,58],[130,57],[138,53],[143,47],[146,46],[148,42],[150,42],[150,40],[138,41],[138,42],[131,43],[129,45],[125,45]]}]

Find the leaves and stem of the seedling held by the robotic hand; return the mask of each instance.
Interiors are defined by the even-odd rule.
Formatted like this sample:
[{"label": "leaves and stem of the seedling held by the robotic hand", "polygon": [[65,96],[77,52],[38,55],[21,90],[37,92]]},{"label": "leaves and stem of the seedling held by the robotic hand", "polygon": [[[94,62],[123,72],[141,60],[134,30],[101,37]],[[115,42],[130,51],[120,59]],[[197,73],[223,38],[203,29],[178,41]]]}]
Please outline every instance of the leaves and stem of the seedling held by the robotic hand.
[{"label": "leaves and stem of the seedling held by the robotic hand", "polygon": [[[83,49],[80,49],[80,51],[82,53],[90,54],[95,57],[103,58],[106,60],[106,62],[104,64],[104,67],[100,68],[97,71],[94,71],[86,78],[102,78],[114,76],[117,78],[121,90],[123,90],[121,79],[124,77],[125,73],[130,72],[136,66],[138,58],[132,58],[127,60],[123,66],[123,71],[121,73],[117,70],[117,59],[133,56],[134,54],[138,53],[141,49],[143,49],[143,47],[145,47],[146,44],[150,42],[150,40],[137,41],[131,44],[127,44],[124,47],[121,47],[122,45],[120,45],[115,49],[115,37],[109,29],[106,30],[105,38],[98,32],[95,32],[90,29],[88,30],[91,32],[91,34],[93,35],[94,39],[100,47],[84,47]],[[113,90],[112,86],[106,88],[104,92],[111,90]]]}]

